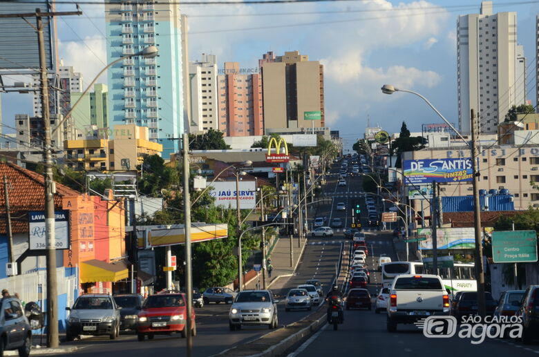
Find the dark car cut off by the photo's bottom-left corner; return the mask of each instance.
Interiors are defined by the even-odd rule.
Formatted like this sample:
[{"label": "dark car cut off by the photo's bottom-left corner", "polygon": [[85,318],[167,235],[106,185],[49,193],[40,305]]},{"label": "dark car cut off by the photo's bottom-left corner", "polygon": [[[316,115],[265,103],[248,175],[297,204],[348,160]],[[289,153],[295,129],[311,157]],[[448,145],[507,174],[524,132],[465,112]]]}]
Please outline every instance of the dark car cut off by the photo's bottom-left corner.
[{"label": "dark car cut off by the photo's bottom-left corner", "polygon": [[25,316],[21,300],[15,296],[6,296],[2,298],[1,302],[0,336],[2,336],[2,343],[0,351],[17,349],[19,356],[30,356],[32,327]]}]

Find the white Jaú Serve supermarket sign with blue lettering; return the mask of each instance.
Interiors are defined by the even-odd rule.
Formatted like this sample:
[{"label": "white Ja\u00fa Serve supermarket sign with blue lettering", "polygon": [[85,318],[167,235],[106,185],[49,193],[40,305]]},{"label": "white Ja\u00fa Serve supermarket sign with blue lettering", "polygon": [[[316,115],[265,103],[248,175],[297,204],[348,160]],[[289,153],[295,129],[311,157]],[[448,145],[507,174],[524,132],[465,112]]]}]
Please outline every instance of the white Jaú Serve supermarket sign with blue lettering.
[{"label": "white Ja\u00fa Serve supermarket sign with blue lettering", "polygon": [[[236,209],[236,181],[214,182],[209,195],[215,198],[214,205]],[[240,181],[240,209],[254,209],[256,185],[254,181]]]}]

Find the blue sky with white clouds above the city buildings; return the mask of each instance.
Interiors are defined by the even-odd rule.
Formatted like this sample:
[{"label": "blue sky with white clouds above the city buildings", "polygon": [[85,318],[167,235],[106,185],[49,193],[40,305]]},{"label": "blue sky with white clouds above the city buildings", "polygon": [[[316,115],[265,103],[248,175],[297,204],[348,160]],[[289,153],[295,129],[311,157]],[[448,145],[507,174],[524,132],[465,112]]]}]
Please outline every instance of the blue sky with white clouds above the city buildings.
[{"label": "blue sky with white clouds above the city buildings", "polygon": [[[62,6],[72,10],[73,6]],[[418,10],[418,9],[422,10]],[[328,126],[347,145],[362,137],[367,118],[386,131],[410,131],[440,119],[421,99],[406,93],[383,95],[383,84],[422,93],[457,123],[456,19],[479,12],[480,1],[342,1],[279,5],[182,6],[189,15],[189,59],[202,52],[241,67],[257,66],[268,50],[299,50],[325,65]],[[82,5],[84,15],[58,20],[60,57],[86,83],[104,66],[103,6]],[[518,42],[527,57],[527,97],[535,104],[535,18],[538,3],[494,1],[494,11],[516,11]],[[267,15],[272,14],[272,15]],[[209,17],[209,15],[217,15]],[[234,15],[234,16],[229,16]],[[264,15],[264,16],[261,16]],[[301,26],[291,26],[302,24]],[[104,77],[102,81],[106,81]],[[530,82],[531,81],[531,82]],[[31,114],[28,95],[3,95],[3,122]]]}]

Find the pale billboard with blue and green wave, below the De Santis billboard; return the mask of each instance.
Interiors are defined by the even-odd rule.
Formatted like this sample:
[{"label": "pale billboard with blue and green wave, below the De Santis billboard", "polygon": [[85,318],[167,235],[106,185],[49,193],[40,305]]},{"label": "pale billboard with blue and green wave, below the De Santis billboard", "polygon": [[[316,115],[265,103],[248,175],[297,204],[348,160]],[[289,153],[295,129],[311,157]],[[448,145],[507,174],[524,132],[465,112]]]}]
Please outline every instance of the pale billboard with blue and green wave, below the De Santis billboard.
[{"label": "pale billboard with blue and green wave, below the De Santis billboard", "polygon": [[[492,227],[484,227],[486,233],[493,231]],[[475,231],[473,227],[438,228],[437,249],[475,249]],[[417,235],[426,236],[420,243],[421,249],[433,249],[433,231],[430,228],[418,228]]]}]

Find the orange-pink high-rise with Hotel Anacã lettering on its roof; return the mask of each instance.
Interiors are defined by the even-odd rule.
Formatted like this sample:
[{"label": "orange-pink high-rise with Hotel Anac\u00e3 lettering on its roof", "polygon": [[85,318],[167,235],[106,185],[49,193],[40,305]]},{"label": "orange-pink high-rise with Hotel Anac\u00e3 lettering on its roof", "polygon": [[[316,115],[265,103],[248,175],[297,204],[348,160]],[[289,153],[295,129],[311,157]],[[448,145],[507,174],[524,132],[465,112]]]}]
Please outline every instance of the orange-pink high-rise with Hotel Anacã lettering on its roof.
[{"label": "orange-pink high-rise with Hotel Anac\u00e3 lettering on its roof", "polygon": [[225,136],[263,135],[261,77],[241,75],[239,67],[225,62],[225,75],[217,76],[218,128]]}]

